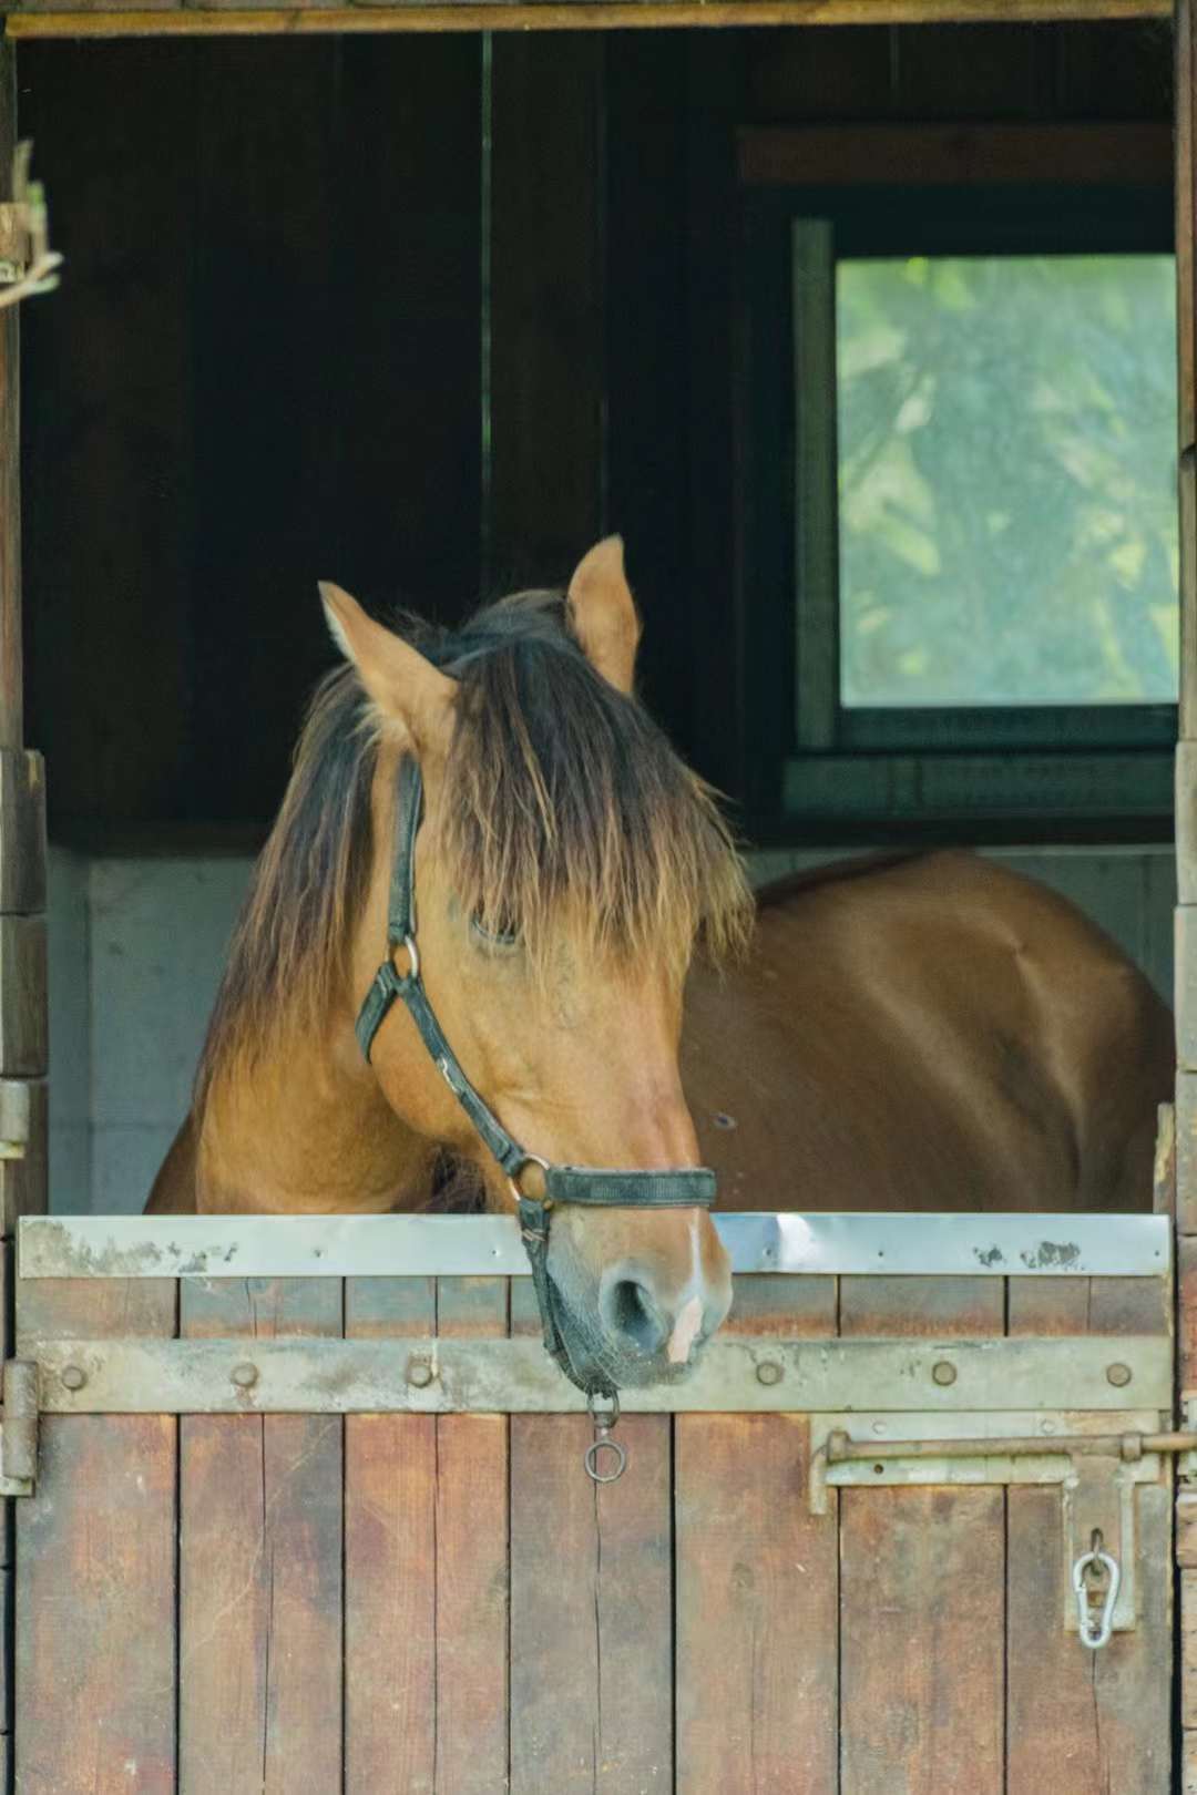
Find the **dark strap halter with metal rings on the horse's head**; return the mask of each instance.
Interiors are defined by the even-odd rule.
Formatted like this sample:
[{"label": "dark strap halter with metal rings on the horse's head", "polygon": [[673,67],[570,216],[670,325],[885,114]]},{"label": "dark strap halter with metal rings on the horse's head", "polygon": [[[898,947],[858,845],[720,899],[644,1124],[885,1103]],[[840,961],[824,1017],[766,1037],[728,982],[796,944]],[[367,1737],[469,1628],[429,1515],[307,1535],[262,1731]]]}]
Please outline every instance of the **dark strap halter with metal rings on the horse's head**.
[{"label": "dark strap halter with metal rings on the horse's head", "polygon": [[[420,980],[420,955],[416,951],[415,919],[415,854],[416,831],[424,810],[424,784],[420,766],[404,756],[398,766],[398,815],[395,820],[395,869],[391,872],[391,899],[388,906],[386,941],[388,957],[375,973],[373,984],[357,1014],[357,1043],[370,1059],[373,1039],[382,1027],[382,1020],[402,998],[407,1012],[420,1030],[420,1039],[440,1066],[445,1084],[458,1099],[470,1122],[483,1136],[488,1151],[506,1172],[511,1192],[519,1204],[520,1231],[531,1260],[531,1276],[544,1323],[544,1344],[553,1353],[565,1375],[589,1395],[614,1393],[603,1380],[585,1380],[574,1371],[562,1330],[556,1321],[556,1296],[549,1280],[549,1213],[558,1203],[598,1203],[614,1208],[709,1208],[714,1203],[714,1172],[705,1167],[684,1167],[668,1172],[619,1172],[599,1170],[589,1165],[549,1165],[538,1154],[520,1147],[499,1122],[494,1109],[479,1097],[458,1055],[450,1048],[441,1025]],[[395,966],[395,951],[407,953],[407,971]],[[529,1197],[519,1186],[519,1174],[528,1165],[540,1167],[544,1176],[544,1195]]]}]

